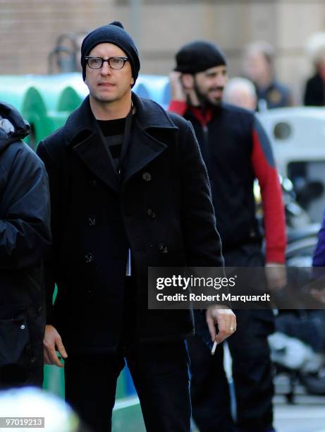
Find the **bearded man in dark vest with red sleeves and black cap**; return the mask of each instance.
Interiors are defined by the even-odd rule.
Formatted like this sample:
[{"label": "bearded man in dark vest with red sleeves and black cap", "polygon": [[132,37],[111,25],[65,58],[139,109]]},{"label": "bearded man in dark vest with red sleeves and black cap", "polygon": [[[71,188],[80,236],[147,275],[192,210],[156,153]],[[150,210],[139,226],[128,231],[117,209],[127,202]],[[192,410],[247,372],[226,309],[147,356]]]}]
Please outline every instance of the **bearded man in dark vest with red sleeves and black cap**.
[{"label": "bearded man in dark vest with red sleeves and black cap", "polygon": [[[286,282],[286,234],[271,146],[255,114],[223,104],[226,80],[226,57],[219,47],[207,41],[186,44],[176,54],[176,68],[171,73],[173,100],[169,109],[190,121],[195,130],[209,173],[226,266],[262,267],[266,261],[269,287],[279,289]],[[265,257],[255,217],[255,178],[262,191]],[[238,331],[228,342],[233,359],[235,422],[222,346],[216,356],[211,356],[199,338],[188,340],[192,412],[200,432],[274,431],[267,341],[273,330],[273,315],[271,311],[240,310],[236,316]]]}]

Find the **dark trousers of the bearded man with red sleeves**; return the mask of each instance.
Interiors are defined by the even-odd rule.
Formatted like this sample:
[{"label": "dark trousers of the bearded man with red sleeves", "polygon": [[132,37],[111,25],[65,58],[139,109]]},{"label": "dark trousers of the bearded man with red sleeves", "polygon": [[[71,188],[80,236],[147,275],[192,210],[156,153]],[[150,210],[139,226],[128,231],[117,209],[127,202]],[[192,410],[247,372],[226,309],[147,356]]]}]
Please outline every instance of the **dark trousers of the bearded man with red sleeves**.
[{"label": "dark trousers of the bearded man with red sleeves", "polygon": [[[259,244],[243,245],[224,256],[228,266],[263,265]],[[192,415],[201,432],[266,432],[272,428],[274,386],[267,336],[274,331],[273,313],[240,310],[235,314],[237,331],[228,338],[237,404],[235,423],[223,370],[222,344],[211,356],[200,337],[188,341]]]}]

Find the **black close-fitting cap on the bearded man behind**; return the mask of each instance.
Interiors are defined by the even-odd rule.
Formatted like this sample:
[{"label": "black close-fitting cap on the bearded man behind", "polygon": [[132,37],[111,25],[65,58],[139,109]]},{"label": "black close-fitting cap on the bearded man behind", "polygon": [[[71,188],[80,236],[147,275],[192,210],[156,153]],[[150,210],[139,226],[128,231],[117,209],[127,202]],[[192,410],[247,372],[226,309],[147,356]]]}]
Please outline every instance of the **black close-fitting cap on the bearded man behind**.
[{"label": "black close-fitting cap on the bearded man behind", "polygon": [[197,40],[178,51],[175,71],[197,73],[226,64],[226,57],[219,47],[205,40]]}]

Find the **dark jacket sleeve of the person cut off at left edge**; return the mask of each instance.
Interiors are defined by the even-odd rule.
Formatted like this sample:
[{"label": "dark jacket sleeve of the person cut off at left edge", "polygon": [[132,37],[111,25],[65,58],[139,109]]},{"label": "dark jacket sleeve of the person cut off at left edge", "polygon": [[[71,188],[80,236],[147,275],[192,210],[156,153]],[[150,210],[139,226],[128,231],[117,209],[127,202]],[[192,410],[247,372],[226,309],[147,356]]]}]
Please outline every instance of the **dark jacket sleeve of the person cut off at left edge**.
[{"label": "dark jacket sleeve of the person cut off at left edge", "polygon": [[35,265],[51,243],[49,185],[27,145],[5,162],[11,165],[1,188],[0,269],[18,270]]}]

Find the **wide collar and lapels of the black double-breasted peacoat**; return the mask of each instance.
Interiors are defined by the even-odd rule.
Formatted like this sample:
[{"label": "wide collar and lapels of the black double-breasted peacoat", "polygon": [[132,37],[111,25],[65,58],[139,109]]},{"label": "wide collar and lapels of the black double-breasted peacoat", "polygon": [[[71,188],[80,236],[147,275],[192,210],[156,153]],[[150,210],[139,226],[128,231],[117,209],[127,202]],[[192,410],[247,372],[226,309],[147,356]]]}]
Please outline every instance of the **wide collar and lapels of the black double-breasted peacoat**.
[{"label": "wide collar and lapels of the black double-breasted peacoat", "polygon": [[[116,192],[121,182],[128,181],[168,148],[159,138],[154,138],[157,137],[157,131],[174,133],[178,130],[164,109],[155,102],[139,98],[133,93],[133,103],[136,112],[121,179],[106,150],[104,137],[90,109],[89,97],[70,114],[66,123],[66,145],[73,147],[73,151],[92,173]],[[154,136],[150,134],[152,130],[156,131]]]}]

